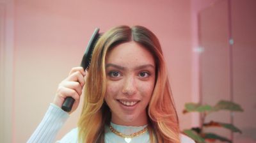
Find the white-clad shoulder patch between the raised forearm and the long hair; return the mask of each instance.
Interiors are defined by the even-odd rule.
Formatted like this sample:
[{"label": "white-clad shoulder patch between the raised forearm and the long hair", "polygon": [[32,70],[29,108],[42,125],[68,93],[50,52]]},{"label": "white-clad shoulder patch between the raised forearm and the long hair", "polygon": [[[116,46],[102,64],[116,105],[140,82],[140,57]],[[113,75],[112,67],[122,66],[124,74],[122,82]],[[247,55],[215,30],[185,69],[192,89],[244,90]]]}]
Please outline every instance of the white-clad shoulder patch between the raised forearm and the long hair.
[{"label": "white-clad shoulder patch between the raised forearm and the long hair", "polygon": [[68,132],[61,140],[58,140],[57,143],[76,143],[78,136],[78,129],[74,128]]}]

